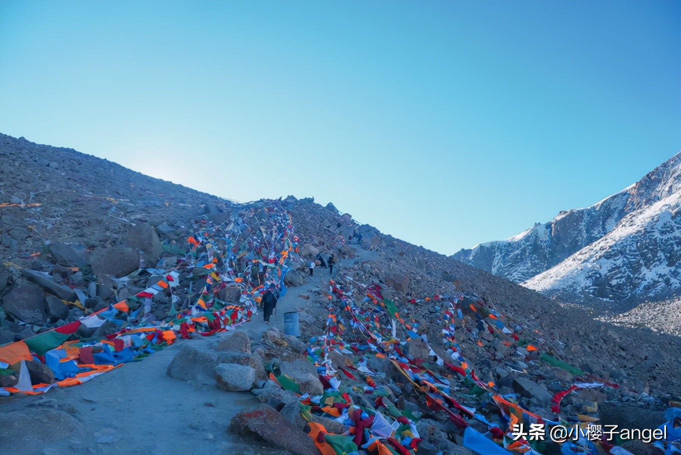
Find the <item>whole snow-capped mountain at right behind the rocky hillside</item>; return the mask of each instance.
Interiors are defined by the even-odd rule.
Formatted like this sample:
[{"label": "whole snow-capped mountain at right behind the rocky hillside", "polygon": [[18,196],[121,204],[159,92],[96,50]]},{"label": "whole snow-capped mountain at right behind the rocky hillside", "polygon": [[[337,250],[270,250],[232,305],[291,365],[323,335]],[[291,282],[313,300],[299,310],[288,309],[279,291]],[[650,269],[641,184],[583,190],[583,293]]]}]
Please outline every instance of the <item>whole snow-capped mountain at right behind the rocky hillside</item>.
[{"label": "whole snow-capped mountain at right behind the rocky hillside", "polygon": [[681,153],[597,204],[454,257],[566,300],[674,296],[681,292]]}]

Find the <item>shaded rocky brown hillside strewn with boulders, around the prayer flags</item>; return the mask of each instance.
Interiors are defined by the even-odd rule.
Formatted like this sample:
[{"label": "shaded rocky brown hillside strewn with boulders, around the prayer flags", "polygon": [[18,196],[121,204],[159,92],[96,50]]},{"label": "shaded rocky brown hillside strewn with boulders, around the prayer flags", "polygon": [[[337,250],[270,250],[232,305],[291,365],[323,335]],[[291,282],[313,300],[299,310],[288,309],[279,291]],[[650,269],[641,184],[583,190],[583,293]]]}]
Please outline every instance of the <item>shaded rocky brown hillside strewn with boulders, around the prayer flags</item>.
[{"label": "shaded rocky brown hillside strewn with boulders, around the prayer flags", "polygon": [[[334,280],[348,289],[352,298],[361,302],[368,285],[381,286],[383,296],[395,302],[409,324],[417,324],[419,332],[428,335],[434,351],[441,357],[447,356],[443,354],[442,339],[442,307],[446,301],[435,296],[465,294],[466,298],[473,299],[471,302],[481,305],[484,302],[484,307],[498,313],[516,339],[506,332],[492,334],[493,331],[479,330],[481,321],[464,308],[466,313],[456,323],[460,352],[482,381],[498,383],[500,393],[518,392],[520,403],[539,415],[553,418],[546,397],[567,388],[575,381],[575,374],[586,380],[596,378],[622,385],[599,394],[575,394],[574,402],[565,402],[566,412],[574,414],[580,412],[585,400],[598,401],[600,416],[606,422],[624,424],[626,422],[617,420],[621,419],[618,415],[635,415],[649,420],[635,417],[639,419],[636,423],[639,426],[650,426],[650,422],[659,424],[665,403],[681,396],[678,338],[592,320],[583,311],[560,307],[533,290],[452,257],[415,247],[371,226],[357,225],[350,215],[338,212],[331,204],[323,207],[313,200],[293,197],[236,204],[69,149],[40,146],[9,136],[1,140],[0,161],[7,165],[1,167],[0,178],[3,223],[0,258],[4,261],[0,269],[3,307],[0,344],[78,320],[83,308],[65,304],[74,302],[76,297],[89,312],[135,295],[156,282],[154,271],[145,270],[149,267],[178,264],[181,273],[173,296],[178,307],[195,302],[202,295],[202,275],[197,275],[200,267],[181,259],[189,251],[187,236],[195,234],[197,226],[203,223],[238,218],[248,219],[250,223],[243,235],[239,235],[240,240],[249,240],[250,234],[257,237],[259,232],[265,237],[262,226],[271,208],[276,213],[290,215],[299,237],[300,255],[291,254],[296,265],[286,275],[291,289],[282,304],[283,311],[291,307],[304,309],[300,313],[301,338],[308,345],[313,345],[314,337],[324,333],[330,300],[327,277],[323,276],[327,269],[317,269],[311,278],[304,264],[317,255],[328,257],[328,253],[334,251],[339,258]],[[352,240],[348,245],[349,236]],[[171,304],[168,295],[159,293],[153,298],[151,311],[162,319],[168,315]],[[110,329],[106,325],[102,327]],[[247,331],[251,330],[248,327],[244,326]],[[246,345],[250,338],[249,348],[244,347],[242,353],[251,356],[248,360],[253,360],[253,368],[258,371],[270,360],[293,362],[308,346],[297,339],[283,338],[273,329],[251,331],[253,333],[249,332],[243,339]],[[102,329],[101,333],[106,330]],[[405,331],[400,328],[398,336],[404,339]],[[520,344],[519,339],[524,343]],[[187,379],[186,375],[193,374],[192,368],[205,370],[201,359],[223,356],[216,354],[220,344],[221,340],[216,339],[200,346],[183,347],[192,363],[182,363],[180,356],[176,361],[180,367],[169,368],[168,374],[197,381],[197,377]],[[525,348],[528,345],[539,351],[533,354]],[[409,348],[407,351],[412,360],[426,362],[432,371],[451,377],[451,372],[440,369],[441,366],[432,361],[427,350]],[[573,366],[570,369],[574,374],[539,359],[539,352]],[[346,358],[357,360],[352,356]],[[456,433],[452,428],[447,429],[447,418],[432,410],[426,411],[424,397],[410,388],[404,377],[394,375],[389,363],[376,360],[370,368],[377,372],[375,378],[380,378],[381,384],[392,390],[391,396],[396,399],[402,396],[402,401],[407,402],[401,405],[404,409],[420,409],[428,415],[424,420],[432,419],[435,422],[432,425],[437,428]],[[99,379],[106,379],[106,375],[95,380]],[[259,381],[263,379],[260,377]],[[7,380],[7,375],[3,380]],[[262,382],[259,384],[263,386],[261,389],[265,388]],[[463,384],[459,386],[461,389],[453,387],[452,390],[464,390]],[[285,403],[281,403],[281,392],[276,390],[261,391],[267,393],[262,401],[271,402],[276,411],[280,411],[281,406],[283,411]],[[274,392],[279,398],[268,398]],[[466,392],[457,394],[466,405],[485,406],[481,399],[467,395]],[[361,398],[357,395],[354,399],[359,403]],[[268,408],[267,412],[276,413],[274,409]],[[488,419],[499,418],[494,412],[485,410],[484,413]],[[289,417],[296,420],[296,415]],[[240,428],[249,424],[236,422],[236,425],[240,423],[243,424]],[[444,434],[434,430],[432,433]],[[285,437],[279,439],[281,447],[289,447]],[[452,436],[452,439],[456,438]],[[440,450],[453,450],[450,446],[445,448],[445,443],[449,443],[447,437],[444,441],[430,442],[435,446],[432,453],[437,453],[438,445]],[[454,453],[470,453],[460,445],[454,448],[461,450]]]}]

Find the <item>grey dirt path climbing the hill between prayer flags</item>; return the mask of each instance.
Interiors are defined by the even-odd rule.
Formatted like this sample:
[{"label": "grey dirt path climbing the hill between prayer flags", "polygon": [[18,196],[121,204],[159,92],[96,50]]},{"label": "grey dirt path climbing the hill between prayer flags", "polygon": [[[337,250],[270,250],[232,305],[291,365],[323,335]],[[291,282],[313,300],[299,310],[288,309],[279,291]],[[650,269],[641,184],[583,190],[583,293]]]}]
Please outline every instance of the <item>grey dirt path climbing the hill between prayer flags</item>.
[{"label": "grey dirt path climbing the hill between prayer flags", "polygon": [[[338,272],[351,261],[340,262]],[[336,271],[334,270],[334,272]],[[284,313],[306,308],[323,311],[313,296],[326,289],[328,268],[316,268],[313,279],[289,287],[277,304],[278,315],[271,324],[284,331]],[[243,324],[252,341],[258,341],[269,326],[262,315]],[[225,392],[165,375],[166,368],[184,343],[157,351],[140,362],[124,364],[114,371],[70,388],[53,388],[44,395],[16,396],[0,401],[0,413],[29,409],[59,409],[72,415],[84,433],[44,443],[31,430],[17,435],[0,428],[0,453],[16,454],[268,454],[225,433],[232,417],[243,409],[259,405],[249,393]]]}]

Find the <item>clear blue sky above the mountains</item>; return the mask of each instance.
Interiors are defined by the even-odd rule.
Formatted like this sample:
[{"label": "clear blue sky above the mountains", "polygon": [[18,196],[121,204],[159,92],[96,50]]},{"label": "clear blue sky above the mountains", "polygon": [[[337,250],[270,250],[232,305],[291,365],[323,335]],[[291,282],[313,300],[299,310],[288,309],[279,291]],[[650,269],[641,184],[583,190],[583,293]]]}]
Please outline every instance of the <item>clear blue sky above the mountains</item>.
[{"label": "clear blue sky above the mountains", "polygon": [[679,1],[0,1],[0,132],[452,254],[681,148]]}]

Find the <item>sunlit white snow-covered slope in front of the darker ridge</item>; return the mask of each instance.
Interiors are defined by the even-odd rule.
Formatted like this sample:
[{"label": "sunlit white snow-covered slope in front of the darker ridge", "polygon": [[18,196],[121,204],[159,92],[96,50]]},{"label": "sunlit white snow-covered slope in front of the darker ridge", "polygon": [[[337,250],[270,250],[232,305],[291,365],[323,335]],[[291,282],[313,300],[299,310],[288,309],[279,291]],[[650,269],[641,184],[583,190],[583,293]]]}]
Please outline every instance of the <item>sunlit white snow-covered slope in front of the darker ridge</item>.
[{"label": "sunlit white snow-covered slope in front of the darker ridge", "polygon": [[681,191],[629,213],[557,266],[524,282],[570,300],[663,300],[681,291]]}]

